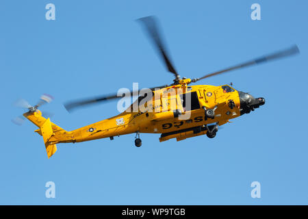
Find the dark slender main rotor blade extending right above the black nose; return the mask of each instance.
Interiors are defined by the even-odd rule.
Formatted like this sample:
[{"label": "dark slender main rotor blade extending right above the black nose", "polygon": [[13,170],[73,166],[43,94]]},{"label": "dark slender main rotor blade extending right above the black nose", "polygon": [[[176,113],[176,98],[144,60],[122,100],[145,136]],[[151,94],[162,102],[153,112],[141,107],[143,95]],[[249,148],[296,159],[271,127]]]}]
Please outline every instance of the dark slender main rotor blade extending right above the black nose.
[{"label": "dark slender main rotor blade extending right above the black nose", "polygon": [[231,71],[231,70],[235,70],[235,69],[239,69],[239,68],[245,68],[245,67],[248,67],[248,66],[257,65],[257,64],[261,64],[261,63],[272,61],[272,60],[278,60],[278,59],[283,58],[283,57],[295,55],[296,53],[299,53],[299,49],[296,45],[294,45],[293,47],[291,47],[289,49],[285,49],[283,51],[279,51],[279,52],[272,53],[272,54],[269,54],[269,55],[264,55],[262,57],[255,59],[255,60],[244,62],[244,63],[238,64],[236,66],[231,66],[229,68],[217,71],[215,73],[210,73],[208,75],[205,75],[205,76],[197,78],[197,79],[192,79],[192,82],[196,82],[196,81],[199,81],[201,79],[205,79],[207,77],[211,77],[211,76],[214,76],[214,75],[226,73],[226,72]]}]

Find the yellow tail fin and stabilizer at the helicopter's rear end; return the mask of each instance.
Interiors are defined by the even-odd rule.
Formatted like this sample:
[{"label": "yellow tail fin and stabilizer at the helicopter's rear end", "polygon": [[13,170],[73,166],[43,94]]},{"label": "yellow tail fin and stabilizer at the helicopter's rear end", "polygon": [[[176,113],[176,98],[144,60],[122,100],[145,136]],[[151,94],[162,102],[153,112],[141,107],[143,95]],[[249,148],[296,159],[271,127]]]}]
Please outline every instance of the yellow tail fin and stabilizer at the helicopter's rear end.
[{"label": "yellow tail fin and stabilizer at the helicopter's rear end", "polygon": [[49,118],[46,119],[42,117],[42,113],[39,110],[33,113],[27,112],[23,114],[23,116],[40,128],[35,132],[42,136],[46,147],[47,156],[48,158],[51,157],[55,151],[57,151],[57,146],[55,144],[56,141],[54,139],[52,140],[52,137],[55,136],[55,132],[66,133],[66,131],[51,123]]}]

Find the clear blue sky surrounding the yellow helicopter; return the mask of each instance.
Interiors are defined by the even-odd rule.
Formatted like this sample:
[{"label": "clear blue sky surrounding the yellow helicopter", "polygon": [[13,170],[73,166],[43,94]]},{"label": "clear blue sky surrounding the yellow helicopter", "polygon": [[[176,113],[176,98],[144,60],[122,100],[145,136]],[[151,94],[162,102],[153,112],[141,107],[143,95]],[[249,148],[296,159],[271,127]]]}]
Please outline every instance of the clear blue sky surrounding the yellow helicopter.
[{"label": "clear blue sky surrounding the yellow helicopter", "polygon": [[[55,21],[45,5],[55,4]],[[261,21],[251,5],[261,5]],[[211,205],[308,204],[307,1],[0,1],[0,204]],[[264,96],[266,105],[218,131],[181,142],[134,134],[79,144],[58,144],[47,159],[42,137],[27,121],[11,118],[19,97],[53,123],[77,129],[118,114],[116,102],[68,114],[71,99],[173,79],[137,18],[155,14],[181,76],[214,70],[298,44],[300,55],[211,77],[221,85]],[[55,198],[45,183],[55,182]],[[251,183],[261,198],[251,198]]]}]

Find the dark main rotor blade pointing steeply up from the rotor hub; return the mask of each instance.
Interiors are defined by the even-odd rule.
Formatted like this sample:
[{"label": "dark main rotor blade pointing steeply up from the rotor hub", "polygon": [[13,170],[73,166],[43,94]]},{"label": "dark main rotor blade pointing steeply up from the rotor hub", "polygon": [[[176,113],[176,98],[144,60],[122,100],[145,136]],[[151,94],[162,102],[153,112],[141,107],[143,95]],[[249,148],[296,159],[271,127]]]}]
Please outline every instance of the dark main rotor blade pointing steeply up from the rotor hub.
[{"label": "dark main rotor blade pointing steeply up from the rotor hub", "polygon": [[154,16],[146,16],[144,18],[139,18],[137,21],[140,21],[146,27],[146,31],[148,32],[150,38],[153,40],[155,47],[157,47],[159,53],[161,53],[164,62],[168,68],[170,73],[175,75],[175,78],[179,78],[179,74],[177,70],[173,67],[172,63],[170,62],[169,55],[166,52],[166,46],[164,46],[162,41],[162,34],[159,32],[158,25],[156,18]]}]

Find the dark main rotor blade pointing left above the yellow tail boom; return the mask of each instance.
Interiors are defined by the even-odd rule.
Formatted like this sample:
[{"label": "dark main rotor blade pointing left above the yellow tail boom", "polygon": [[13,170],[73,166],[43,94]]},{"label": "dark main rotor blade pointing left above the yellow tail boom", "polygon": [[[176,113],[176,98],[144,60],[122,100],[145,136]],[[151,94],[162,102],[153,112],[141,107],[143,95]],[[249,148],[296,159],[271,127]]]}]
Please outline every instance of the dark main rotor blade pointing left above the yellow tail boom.
[{"label": "dark main rotor blade pointing left above the yellow tail boom", "polygon": [[[168,85],[160,86],[160,87],[155,87],[155,88],[149,88],[150,90],[155,90],[155,89],[160,89],[160,88],[166,88]],[[131,96],[136,96],[139,95],[140,90],[136,91],[130,91],[125,93],[125,96],[127,94],[130,94]],[[77,107],[85,107],[87,105],[93,105],[95,103],[103,103],[106,101],[111,101],[114,99],[119,99],[123,98],[123,96],[118,96],[118,94],[109,94],[105,96],[97,96],[97,97],[92,97],[88,99],[81,99],[81,100],[76,100],[76,101],[70,101],[64,104],[64,107],[68,112],[73,112]]]}]

